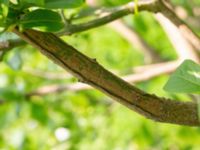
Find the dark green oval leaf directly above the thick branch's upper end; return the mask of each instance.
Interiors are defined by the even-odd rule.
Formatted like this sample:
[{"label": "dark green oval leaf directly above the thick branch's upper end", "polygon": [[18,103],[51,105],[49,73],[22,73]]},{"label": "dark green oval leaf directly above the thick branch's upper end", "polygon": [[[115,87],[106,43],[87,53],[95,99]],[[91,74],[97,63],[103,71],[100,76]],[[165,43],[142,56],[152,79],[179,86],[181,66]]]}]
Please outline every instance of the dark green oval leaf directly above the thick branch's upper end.
[{"label": "dark green oval leaf directly above the thick branch's upper end", "polygon": [[61,16],[57,12],[47,9],[29,12],[20,20],[22,29],[39,28],[42,31],[56,32],[63,26]]}]

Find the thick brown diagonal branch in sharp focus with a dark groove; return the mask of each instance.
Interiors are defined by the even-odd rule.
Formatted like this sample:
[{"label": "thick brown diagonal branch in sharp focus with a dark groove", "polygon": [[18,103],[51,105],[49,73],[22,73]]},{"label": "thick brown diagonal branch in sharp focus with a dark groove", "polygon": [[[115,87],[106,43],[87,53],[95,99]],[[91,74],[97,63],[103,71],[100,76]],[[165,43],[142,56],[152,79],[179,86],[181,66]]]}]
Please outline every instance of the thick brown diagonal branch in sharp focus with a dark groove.
[{"label": "thick brown diagonal branch in sharp focus with a dark groove", "polygon": [[118,78],[52,33],[34,30],[19,32],[17,29],[14,32],[79,80],[147,118],[181,125],[200,125],[196,103],[168,100],[147,94]]}]

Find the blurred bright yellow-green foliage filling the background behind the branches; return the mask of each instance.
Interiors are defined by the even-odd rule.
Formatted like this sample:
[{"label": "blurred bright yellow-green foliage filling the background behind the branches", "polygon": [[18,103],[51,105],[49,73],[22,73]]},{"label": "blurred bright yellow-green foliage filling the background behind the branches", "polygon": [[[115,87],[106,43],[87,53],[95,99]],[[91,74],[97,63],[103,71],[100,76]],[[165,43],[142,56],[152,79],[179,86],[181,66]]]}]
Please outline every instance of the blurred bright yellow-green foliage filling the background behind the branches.
[{"label": "blurred bright yellow-green foliage filling the background behind the branches", "polygon": [[[99,4],[113,6],[127,1],[100,0]],[[195,6],[200,5],[198,0],[193,2]],[[192,8],[193,5],[188,3],[189,0],[182,0],[175,4]],[[151,14],[139,13],[124,18],[124,21],[154,47],[163,60],[176,59],[166,34]],[[5,37],[13,38],[4,35],[1,40]],[[142,52],[108,26],[63,39],[118,75],[132,73],[135,66],[145,63]],[[48,79],[48,74],[52,73],[57,78]],[[15,48],[6,54],[0,63],[1,150],[200,149],[199,128],[145,119],[96,90],[24,96],[42,86],[76,83],[67,75],[66,79],[59,79],[64,73],[31,46]],[[167,78],[156,77],[137,86],[159,96],[187,99],[186,95],[169,95],[163,91]]]}]

